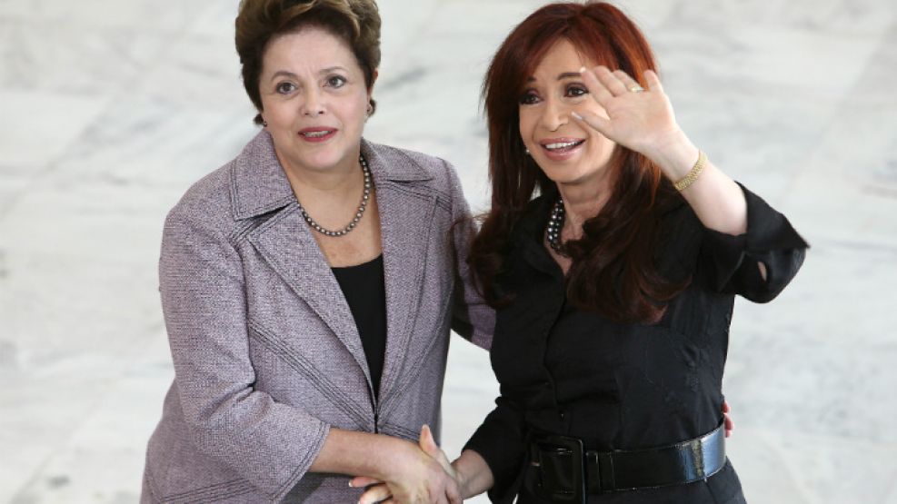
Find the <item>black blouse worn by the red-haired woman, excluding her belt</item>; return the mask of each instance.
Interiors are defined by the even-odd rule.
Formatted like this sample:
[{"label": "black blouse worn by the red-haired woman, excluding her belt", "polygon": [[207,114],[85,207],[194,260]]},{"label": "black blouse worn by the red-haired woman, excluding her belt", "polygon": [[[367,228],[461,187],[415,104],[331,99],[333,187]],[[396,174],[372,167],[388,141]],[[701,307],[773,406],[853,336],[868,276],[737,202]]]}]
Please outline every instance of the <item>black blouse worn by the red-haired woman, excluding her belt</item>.
[{"label": "black blouse worn by the red-haired woman, excluding her belt", "polygon": [[[491,351],[501,396],[465,447],[492,469],[493,501],[510,501],[521,490],[524,448],[533,430],[581,438],[587,450],[634,450],[695,438],[720,424],[734,294],[771,301],[800,269],[807,247],[781,213],[743,192],[748,229],[740,236],[705,228],[679,196],[659,216],[659,271],[692,281],[654,325],[615,323],[573,308],[563,272],[543,245],[553,198],[530,203],[514,226],[506,273],[496,279],[502,292],[514,295],[497,312]],[[765,282],[757,262],[766,266]],[[605,499],[743,498],[727,464],[698,483],[590,502]]]}]

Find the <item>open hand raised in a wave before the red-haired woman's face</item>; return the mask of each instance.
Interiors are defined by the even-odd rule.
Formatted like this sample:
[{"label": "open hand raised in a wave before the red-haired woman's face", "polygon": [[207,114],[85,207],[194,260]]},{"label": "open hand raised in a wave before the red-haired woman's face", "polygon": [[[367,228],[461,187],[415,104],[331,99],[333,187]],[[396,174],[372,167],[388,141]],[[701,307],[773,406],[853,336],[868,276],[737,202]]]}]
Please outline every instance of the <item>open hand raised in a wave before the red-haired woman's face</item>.
[{"label": "open hand raised in a wave before the red-haired woman's face", "polygon": [[603,65],[583,68],[581,72],[583,84],[607,116],[573,113],[573,117],[649,158],[657,156],[668,144],[682,140],[673,105],[653,71],[647,70],[643,75],[647,89],[622,70],[612,72]]}]

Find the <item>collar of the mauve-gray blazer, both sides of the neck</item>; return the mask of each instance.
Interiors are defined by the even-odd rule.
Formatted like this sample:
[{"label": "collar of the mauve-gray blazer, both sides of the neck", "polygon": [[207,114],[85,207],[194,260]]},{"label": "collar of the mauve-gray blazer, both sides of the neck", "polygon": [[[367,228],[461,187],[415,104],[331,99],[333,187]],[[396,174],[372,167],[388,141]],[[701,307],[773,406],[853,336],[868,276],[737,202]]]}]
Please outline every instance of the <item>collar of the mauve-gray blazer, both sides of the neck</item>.
[{"label": "collar of the mauve-gray blazer, both sides of the neck", "polygon": [[[362,139],[361,151],[374,176],[374,183],[385,180],[415,182],[430,180],[417,163],[396,163],[395,155],[382,145]],[[274,153],[271,134],[262,130],[234,160],[231,171],[231,197],[234,219],[241,221],[283,208],[296,201],[293,188]]]}]

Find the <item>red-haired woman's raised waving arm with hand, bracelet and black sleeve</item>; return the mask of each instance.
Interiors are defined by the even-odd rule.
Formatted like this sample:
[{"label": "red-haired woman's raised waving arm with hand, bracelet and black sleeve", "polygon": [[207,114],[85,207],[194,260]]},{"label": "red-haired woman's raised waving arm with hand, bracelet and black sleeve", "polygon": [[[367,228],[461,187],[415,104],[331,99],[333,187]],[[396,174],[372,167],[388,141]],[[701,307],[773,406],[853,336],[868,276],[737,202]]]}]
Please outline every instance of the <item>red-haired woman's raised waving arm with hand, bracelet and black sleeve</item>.
[{"label": "red-haired woman's raised waving arm with hand, bracelet and black sleeve", "polygon": [[[614,142],[642,153],[676,183],[696,165],[698,149],[676,124],[673,106],[657,74],[648,70],[643,78],[649,89],[633,92],[633,86],[639,84],[622,71],[611,72],[604,66],[583,71],[589,93],[603,106],[606,116],[573,116]],[[769,301],[800,268],[806,242],[780,213],[713,163],[704,165],[682,195],[708,230],[711,248],[719,245],[721,255],[734,261],[727,266],[732,272],[724,268],[715,272],[718,290],[738,292],[752,301]],[[729,243],[724,243],[726,240]],[[736,250],[739,246],[741,251]],[[770,271],[773,266],[778,269],[774,275]]]}]

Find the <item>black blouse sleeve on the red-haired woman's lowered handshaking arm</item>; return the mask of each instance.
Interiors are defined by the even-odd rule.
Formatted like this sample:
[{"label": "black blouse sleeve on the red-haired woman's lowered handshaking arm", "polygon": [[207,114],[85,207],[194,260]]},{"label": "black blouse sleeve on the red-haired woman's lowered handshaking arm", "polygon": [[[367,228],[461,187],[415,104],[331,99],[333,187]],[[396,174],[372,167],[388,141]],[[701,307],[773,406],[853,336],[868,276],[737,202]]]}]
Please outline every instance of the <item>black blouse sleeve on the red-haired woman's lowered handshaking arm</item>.
[{"label": "black blouse sleeve on the red-haired woman's lowered handshaking arm", "polygon": [[523,410],[503,395],[495,400],[495,404],[495,409],[473,433],[464,450],[477,452],[492,470],[494,483],[489,489],[489,499],[511,502],[526,453]]}]

